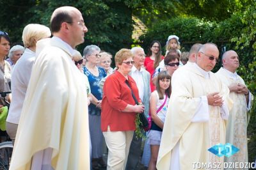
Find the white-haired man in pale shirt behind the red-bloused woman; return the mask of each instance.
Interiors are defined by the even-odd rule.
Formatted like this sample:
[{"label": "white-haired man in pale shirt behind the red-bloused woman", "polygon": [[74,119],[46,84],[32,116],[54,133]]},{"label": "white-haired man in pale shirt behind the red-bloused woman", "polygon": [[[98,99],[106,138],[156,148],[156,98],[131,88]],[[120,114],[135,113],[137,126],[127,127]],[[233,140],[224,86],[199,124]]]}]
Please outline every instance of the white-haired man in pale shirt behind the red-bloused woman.
[{"label": "white-haired man in pale shirt behind the red-bloused woman", "polygon": [[[129,74],[137,84],[140,99],[145,106],[144,113],[146,114],[146,116],[148,116],[150,97],[150,73],[143,68],[145,61],[145,52],[141,47],[133,47],[131,49],[131,52],[133,54],[134,65],[132,66],[132,71]],[[141,138],[136,138],[136,134],[134,133],[127,160],[127,170],[138,169],[138,163],[141,155],[140,150]]]}]

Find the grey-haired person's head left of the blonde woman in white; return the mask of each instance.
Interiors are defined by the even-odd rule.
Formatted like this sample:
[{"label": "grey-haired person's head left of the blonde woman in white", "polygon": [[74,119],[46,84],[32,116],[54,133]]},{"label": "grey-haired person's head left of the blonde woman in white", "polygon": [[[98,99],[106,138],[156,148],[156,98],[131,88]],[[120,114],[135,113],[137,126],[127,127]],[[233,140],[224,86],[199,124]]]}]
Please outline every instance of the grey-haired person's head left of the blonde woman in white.
[{"label": "grey-haired person's head left of the blonde woman in white", "polygon": [[20,56],[22,56],[23,52],[24,52],[24,47],[22,47],[21,45],[14,45],[9,52],[8,55],[8,59],[7,61],[10,63],[10,65],[13,66],[16,64],[16,62],[18,61],[18,59],[20,58]]}]

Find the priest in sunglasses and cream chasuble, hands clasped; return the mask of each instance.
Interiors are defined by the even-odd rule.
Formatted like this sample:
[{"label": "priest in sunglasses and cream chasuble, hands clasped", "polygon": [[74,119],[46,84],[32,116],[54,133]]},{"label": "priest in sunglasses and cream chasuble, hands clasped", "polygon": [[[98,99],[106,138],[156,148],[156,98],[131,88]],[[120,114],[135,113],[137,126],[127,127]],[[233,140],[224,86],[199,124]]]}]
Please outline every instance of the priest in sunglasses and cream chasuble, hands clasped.
[{"label": "priest in sunglasses and cream chasuble, hands clasped", "polygon": [[211,72],[218,57],[216,45],[205,43],[196,63],[173,73],[157,169],[193,169],[193,162],[223,163],[223,157],[207,151],[225,144],[224,121],[232,105],[227,86]]}]

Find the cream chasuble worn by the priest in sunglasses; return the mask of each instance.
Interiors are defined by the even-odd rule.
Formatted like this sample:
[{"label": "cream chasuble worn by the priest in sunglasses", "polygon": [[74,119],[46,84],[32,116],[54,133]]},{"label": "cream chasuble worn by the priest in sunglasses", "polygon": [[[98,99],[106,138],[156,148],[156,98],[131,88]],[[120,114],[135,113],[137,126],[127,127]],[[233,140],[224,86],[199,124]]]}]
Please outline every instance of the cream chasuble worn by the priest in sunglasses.
[{"label": "cream chasuble worn by the priest in sunglasses", "polygon": [[229,110],[232,107],[229,90],[214,73],[202,73],[196,64],[183,67],[173,73],[172,95],[164,122],[157,169],[171,169],[172,151],[177,146],[179,151],[174,152],[179,153],[179,158],[175,158],[179,160],[179,165],[175,167],[179,169],[195,169],[195,162],[223,162],[223,157],[208,151],[215,144],[225,143],[225,121],[221,118],[221,107],[208,105],[208,111],[205,111],[205,114],[209,114],[208,121],[192,120],[202,105],[202,98],[210,93],[220,93]]}]

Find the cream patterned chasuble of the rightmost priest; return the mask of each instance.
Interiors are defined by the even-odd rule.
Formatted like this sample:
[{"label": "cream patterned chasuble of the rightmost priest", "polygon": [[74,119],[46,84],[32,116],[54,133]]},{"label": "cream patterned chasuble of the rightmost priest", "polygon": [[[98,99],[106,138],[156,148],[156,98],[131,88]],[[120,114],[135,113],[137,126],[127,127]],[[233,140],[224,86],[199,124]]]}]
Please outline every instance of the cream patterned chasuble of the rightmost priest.
[{"label": "cream patterned chasuble of the rightmost priest", "polygon": [[[229,72],[225,68],[220,68],[216,76],[220,77],[221,81],[227,86],[232,83],[245,85],[243,79],[237,73]],[[239,148],[239,151],[232,157],[225,158],[225,162],[248,162],[246,112],[250,109],[247,108],[249,104],[246,104],[244,94],[230,92],[229,97],[233,100],[234,106],[228,117],[226,143],[233,144],[236,148]],[[249,103],[252,102],[251,93],[249,99]]]}]

